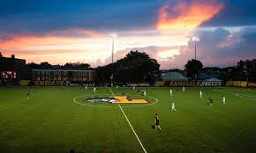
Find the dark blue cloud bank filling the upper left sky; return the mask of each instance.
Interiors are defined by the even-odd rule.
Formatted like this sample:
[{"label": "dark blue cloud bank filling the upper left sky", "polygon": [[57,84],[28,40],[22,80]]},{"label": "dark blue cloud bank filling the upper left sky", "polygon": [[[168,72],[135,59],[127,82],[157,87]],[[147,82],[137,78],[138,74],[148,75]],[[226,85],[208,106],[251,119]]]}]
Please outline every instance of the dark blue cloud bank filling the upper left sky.
[{"label": "dark blue cloud bank filling the upper left sky", "polygon": [[70,28],[118,31],[154,24],[154,1],[0,1],[0,31],[46,33]]}]

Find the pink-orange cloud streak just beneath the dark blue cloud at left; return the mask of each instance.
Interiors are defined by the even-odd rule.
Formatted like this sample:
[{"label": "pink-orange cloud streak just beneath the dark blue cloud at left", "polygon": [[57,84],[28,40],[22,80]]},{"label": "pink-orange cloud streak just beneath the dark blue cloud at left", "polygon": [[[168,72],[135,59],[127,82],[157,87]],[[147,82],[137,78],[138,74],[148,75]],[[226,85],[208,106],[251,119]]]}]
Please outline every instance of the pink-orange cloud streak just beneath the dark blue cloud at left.
[{"label": "pink-orange cloud streak just beneath the dark blue cloud at left", "polygon": [[[79,37],[78,37],[79,35]],[[27,49],[31,47],[61,47],[62,45],[78,44],[85,38],[100,38],[104,33],[98,33],[85,29],[69,29],[56,31],[45,35],[13,35],[11,38],[0,41],[0,48]]]}]

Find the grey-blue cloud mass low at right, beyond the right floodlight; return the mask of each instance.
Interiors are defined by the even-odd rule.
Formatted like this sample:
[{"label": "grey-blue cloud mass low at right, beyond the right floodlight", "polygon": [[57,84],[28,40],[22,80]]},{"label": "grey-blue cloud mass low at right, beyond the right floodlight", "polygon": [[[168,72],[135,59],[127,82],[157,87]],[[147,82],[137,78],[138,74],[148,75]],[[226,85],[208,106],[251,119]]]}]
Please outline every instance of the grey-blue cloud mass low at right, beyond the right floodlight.
[{"label": "grey-blue cloud mass low at right, beyond the right floodlight", "polygon": [[[196,34],[200,37],[199,59],[207,66],[227,66],[240,59],[256,57],[256,33],[248,33],[245,28],[238,32],[218,28],[215,31],[200,31]],[[192,45],[190,41],[188,49],[192,50]]]}]

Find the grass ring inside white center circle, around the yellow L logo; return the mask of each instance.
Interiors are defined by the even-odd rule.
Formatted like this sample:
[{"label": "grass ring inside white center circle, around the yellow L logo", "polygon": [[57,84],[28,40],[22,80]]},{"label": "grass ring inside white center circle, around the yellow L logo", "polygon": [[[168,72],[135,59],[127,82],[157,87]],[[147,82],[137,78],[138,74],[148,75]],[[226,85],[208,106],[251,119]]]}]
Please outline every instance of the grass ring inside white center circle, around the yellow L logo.
[{"label": "grass ring inside white center circle, around the yellow L logo", "polygon": [[[72,102],[75,104],[79,104],[82,106],[95,106],[95,107],[119,107],[117,104],[115,103],[94,103],[94,102],[88,102],[85,101],[85,98],[96,98],[98,96],[106,96],[109,97],[109,94],[95,94],[95,95],[82,95],[76,98],[73,98]],[[133,95],[134,97],[142,97],[141,95]],[[145,97],[143,97],[145,98]],[[144,105],[138,105],[138,104],[120,104],[122,107],[139,107],[139,106],[152,106],[154,104],[156,104],[158,102],[157,98],[153,98],[153,97],[146,97],[146,98],[150,98],[152,100],[154,100],[154,102],[152,103],[148,103],[148,104],[144,104]],[[80,100],[79,100],[80,99]],[[82,101],[83,100],[83,101]],[[151,101],[151,100],[150,100]],[[132,106],[131,106],[132,105]]]}]

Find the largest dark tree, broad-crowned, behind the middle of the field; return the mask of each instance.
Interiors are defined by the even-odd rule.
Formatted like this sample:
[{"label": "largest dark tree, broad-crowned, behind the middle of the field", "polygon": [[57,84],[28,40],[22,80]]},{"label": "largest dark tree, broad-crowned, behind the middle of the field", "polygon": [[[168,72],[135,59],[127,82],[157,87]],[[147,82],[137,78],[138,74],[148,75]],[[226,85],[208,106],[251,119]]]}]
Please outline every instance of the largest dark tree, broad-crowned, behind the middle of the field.
[{"label": "largest dark tree, broad-crowned, behind the middle of the field", "polygon": [[[160,65],[144,52],[131,51],[123,59],[96,69],[98,80],[109,80],[114,74],[116,83],[151,82],[152,71],[158,71]],[[101,79],[100,79],[101,77]]]}]

